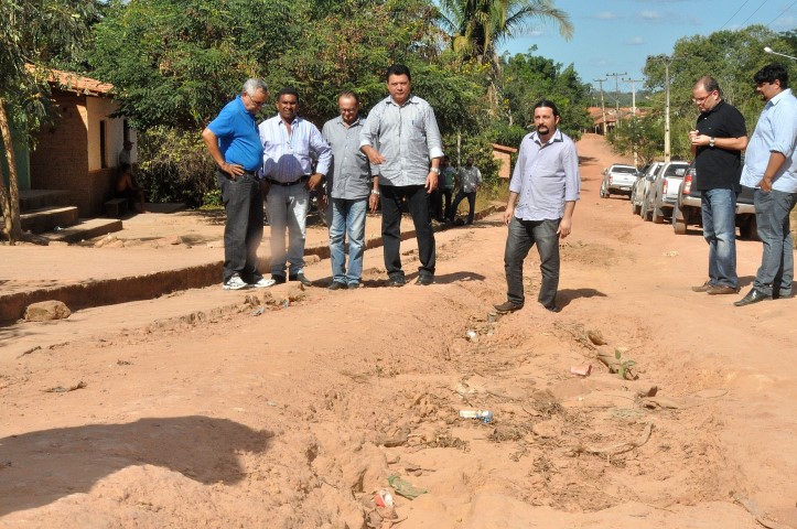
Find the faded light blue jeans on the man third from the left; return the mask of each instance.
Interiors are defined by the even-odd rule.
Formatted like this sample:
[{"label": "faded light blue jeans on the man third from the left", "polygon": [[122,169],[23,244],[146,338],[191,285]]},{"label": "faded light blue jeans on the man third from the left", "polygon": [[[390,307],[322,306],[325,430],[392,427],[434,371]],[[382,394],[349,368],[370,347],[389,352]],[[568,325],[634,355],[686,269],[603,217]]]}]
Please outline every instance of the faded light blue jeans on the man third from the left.
[{"label": "faded light blue jeans on the man third from the left", "polygon": [[[330,223],[330,257],[332,280],[337,283],[357,284],[363,277],[365,253],[365,214],[368,197],[332,198]],[[346,235],[348,234],[348,270],[346,270]]]}]

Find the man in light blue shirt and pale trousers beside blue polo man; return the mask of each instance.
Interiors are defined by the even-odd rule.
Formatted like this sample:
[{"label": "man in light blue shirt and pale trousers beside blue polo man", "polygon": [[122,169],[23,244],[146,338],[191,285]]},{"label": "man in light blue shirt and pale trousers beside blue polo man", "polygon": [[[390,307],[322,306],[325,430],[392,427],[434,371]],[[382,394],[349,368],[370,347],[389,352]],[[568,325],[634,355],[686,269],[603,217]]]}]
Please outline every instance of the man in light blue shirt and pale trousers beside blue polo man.
[{"label": "man in light blue shirt and pale trousers beside blue polo man", "polygon": [[[306,236],[310,192],[320,188],[330,170],[332,150],[321,131],[297,115],[299,94],[282,88],[277,94],[277,116],[258,127],[263,147],[263,188],[271,225],[271,279],[288,279],[310,287],[304,276],[304,240]],[[313,172],[313,163],[316,163]],[[288,251],[286,252],[286,228]]]}]

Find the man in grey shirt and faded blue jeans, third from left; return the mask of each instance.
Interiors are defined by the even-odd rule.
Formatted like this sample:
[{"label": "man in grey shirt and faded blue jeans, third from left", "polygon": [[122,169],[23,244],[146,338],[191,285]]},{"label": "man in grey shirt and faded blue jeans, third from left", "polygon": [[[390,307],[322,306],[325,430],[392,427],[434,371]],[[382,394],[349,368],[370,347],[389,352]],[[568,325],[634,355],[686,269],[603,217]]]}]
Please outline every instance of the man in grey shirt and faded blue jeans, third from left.
[{"label": "man in grey shirt and faded blue jeans, third from left", "polygon": [[[332,148],[332,168],[327,173],[330,223],[330,290],[356,289],[363,276],[366,210],[375,213],[379,205],[378,176],[371,176],[368,158],[359,150],[364,119],[359,117],[359,98],[343,91],[337,98],[341,116],[324,123],[321,134]],[[346,267],[348,235],[348,267]]]}]

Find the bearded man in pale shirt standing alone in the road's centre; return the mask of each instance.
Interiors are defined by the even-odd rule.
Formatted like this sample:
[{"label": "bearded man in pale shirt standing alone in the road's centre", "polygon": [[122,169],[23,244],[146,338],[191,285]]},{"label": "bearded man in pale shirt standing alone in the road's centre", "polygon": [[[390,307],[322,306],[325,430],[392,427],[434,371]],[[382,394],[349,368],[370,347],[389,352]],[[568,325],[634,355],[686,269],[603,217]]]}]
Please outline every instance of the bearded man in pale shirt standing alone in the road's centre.
[{"label": "bearded man in pale shirt standing alone in the road's centre", "polygon": [[523,261],[534,245],[542,272],[537,301],[547,310],[559,312],[559,240],[570,235],[581,188],[575,143],[557,130],[559,109],[545,99],[534,109],[537,130],[520,142],[504,213],[504,223],[509,228],[504,250],[507,301],[495,305],[500,313],[523,309]]}]

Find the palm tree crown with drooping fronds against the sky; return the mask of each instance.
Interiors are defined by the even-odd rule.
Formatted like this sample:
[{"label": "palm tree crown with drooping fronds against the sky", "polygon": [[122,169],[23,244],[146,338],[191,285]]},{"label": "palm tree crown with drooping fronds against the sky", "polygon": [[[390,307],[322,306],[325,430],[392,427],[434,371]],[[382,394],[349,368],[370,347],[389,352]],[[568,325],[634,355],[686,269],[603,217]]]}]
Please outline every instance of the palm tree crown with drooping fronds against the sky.
[{"label": "palm tree crown with drooping fronds against the sky", "polygon": [[535,21],[553,21],[564,39],[573,35],[570,17],[552,0],[440,0],[440,9],[452,48],[480,64],[496,63],[497,47]]}]

